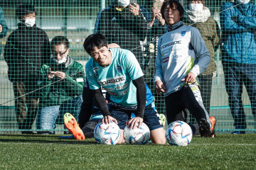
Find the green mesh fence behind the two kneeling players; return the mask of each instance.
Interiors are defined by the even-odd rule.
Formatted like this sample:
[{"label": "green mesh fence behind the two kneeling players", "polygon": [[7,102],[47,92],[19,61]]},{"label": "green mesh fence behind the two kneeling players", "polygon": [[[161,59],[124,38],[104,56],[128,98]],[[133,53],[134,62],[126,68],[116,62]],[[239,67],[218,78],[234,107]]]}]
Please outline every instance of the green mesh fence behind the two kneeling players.
[{"label": "green mesh fence behind the two kneeling players", "polygon": [[[159,8],[161,1],[129,2],[139,4],[139,10],[136,5],[120,8],[115,0],[0,2],[0,133],[42,131],[43,123],[50,124],[43,130],[60,133],[66,131],[65,112],[78,118],[81,79],[90,58],[83,42],[92,33],[102,33],[108,42],[134,53],[155,97],[156,110],[166,114],[164,97],[156,94],[153,82],[158,40],[168,31],[157,13],[153,17],[152,8]],[[255,131],[255,1],[250,1],[250,6],[237,0],[228,4],[196,1],[203,4],[200,13],[190,6],[195,1],[180,2],[185,7],[183,22],[198,28],[210,53],[208,69],[198,78],[206,111],[218,120],[215,130]],[[61,43],[50,44],[56,36],[68,38],[70,44],[62,43],[63,48],[56,49]],[[59,67],[58,57],[65,56],[63,67]],[[58,67],[53,66],[53,59]],[[65,72],[66,77],[49,78],[49,68]],[[190,121],[193,118],[188,116]]]}]

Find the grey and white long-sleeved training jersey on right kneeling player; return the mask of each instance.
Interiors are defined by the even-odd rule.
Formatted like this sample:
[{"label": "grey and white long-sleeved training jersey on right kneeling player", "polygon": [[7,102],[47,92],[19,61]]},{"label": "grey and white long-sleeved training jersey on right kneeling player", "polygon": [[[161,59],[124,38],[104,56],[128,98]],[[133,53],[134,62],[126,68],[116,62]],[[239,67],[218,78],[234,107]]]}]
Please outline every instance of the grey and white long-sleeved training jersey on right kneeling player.
[{"label": "grey and white long-sleeved training jersey on right kneeling player", "polygon": [[[164,97],[181,89],[188,72],[196,77],[205,72],[210,55],[198,29],[184,26],[165,33],[159,38],[156,55],[154,82],[161,80],[166,86]],[[198,79],[196,79],[198,83]]]}]

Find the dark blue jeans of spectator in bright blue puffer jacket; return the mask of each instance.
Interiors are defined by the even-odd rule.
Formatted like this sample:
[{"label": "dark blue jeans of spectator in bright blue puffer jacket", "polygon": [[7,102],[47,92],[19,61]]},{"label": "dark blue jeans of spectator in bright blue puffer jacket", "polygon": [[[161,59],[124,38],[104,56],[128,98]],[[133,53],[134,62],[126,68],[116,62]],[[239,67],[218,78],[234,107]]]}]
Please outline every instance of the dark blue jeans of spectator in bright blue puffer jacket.
[{"label": "dark blue jeans of spectator in bright blue puffer jacket", "polygon": [[242,106],[242,84],[245,84],[252,106],[252,114],[256,117],[256,64],[223,62],[223,71],[234,125],[246,128],[245,111]]}]

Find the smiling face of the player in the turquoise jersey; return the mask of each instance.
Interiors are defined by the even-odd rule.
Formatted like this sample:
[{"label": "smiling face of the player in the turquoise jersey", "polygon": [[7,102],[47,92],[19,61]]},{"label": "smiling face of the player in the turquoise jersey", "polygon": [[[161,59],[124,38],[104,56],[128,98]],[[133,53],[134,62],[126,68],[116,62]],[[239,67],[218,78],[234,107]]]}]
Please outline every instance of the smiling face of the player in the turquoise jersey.
[{"label": "smiling face of the player in the turquoise jersey", "polygon": [[101,67],[107,67],[111,64],[111,52],[106,46],[100,48],[95,47],[93,51],[90,52],[90,56],[95,62],[100,64]]}]

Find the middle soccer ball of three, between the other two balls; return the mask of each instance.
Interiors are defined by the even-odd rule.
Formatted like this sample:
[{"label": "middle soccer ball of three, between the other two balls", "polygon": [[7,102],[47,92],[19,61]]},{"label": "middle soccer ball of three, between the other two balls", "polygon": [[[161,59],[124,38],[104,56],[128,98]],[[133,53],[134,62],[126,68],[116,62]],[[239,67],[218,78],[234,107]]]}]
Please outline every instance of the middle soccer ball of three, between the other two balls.
[{"label": "middle soccer ball of three, between the other two balls", "polygon": [[144,145],[149,141],[149,127],[145,123],[142,123],[139,128],[138,125],[139,123],[134,129],[130,129],[127,126],[124,128],[124,140],[127,144]]}]

